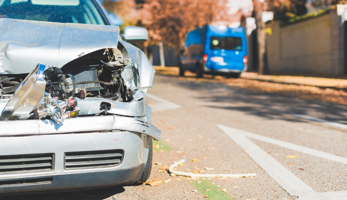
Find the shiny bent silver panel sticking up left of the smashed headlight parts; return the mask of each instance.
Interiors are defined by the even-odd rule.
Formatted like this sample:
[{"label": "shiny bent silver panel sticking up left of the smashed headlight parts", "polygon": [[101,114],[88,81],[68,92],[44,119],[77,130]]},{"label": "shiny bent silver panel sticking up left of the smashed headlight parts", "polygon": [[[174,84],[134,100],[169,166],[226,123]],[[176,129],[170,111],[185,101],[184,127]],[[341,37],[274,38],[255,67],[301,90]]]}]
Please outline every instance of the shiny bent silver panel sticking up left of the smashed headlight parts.
[{"label": "shiny bent silver panel sticking up left of the smashed headlight parts", "polygon": [[0,120],[27,119],[42,101],[46,81],[43,78],[45,65],[38,64],[24,79],[0,113]]}]

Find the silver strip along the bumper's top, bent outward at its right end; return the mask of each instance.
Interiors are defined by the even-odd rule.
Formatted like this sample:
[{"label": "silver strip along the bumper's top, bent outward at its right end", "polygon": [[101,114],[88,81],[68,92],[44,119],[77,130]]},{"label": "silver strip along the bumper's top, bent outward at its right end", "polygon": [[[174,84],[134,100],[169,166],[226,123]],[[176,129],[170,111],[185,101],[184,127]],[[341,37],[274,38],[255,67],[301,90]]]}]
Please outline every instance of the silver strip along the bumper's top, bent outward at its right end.
[{"label": "silver strip along the bumper's top, bent outward at its right end", "polygon": [[62,124],[53,120],[21,120],[11,123],[0,121],[0,127],[0,137],[117,130],[142,133],[155,140],[160,140],[161,137],[161,131],[142,118],[117,115],[66,119]]}]

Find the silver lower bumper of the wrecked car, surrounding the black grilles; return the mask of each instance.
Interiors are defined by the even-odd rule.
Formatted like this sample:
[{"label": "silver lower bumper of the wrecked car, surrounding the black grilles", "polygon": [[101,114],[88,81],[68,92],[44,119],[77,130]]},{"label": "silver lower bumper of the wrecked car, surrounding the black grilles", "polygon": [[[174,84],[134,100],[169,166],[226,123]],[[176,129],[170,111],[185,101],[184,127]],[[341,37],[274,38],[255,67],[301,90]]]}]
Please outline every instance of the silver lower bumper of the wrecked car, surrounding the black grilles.
[{"label": "silver lower bumper of the wrecked car, surrounding the black grilles", "polygon": [[[0,193],[130,184],[142,174],[147,161],[150,140],[151,138],[144,134],[129,131],[2,137],[0,139],[0,156],[47,153],[53,154],[54,160],[51,171],[0,174]],[[66,152],[110,149],[124,151],[122,161],[117,166],[65,168]],[[112,174],[113,176],[110,176]],[[42,178],[51,178],[52,181],[32,184],[1,184],[9,181]]]}]

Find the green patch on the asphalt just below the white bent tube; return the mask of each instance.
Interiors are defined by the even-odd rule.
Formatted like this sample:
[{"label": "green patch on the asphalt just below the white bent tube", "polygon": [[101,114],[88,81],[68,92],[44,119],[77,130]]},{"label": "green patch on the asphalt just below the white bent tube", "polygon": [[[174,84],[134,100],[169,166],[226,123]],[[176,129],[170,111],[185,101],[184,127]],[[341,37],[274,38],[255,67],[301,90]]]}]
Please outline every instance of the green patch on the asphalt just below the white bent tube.
[{"label": "green patch on the asphalt just below the white bent tube", "polygon": [[[200,181],[202,183],[198,183]],[[198,179],[197,181],[191,180],[191,184],[203,195],[208,195],[206,199],[232,199],[227,192],[221,192],[222,187],[217,187],[218,185],[212,184],[210,180]],[[208,191],[206,191],[208,190]]]}]

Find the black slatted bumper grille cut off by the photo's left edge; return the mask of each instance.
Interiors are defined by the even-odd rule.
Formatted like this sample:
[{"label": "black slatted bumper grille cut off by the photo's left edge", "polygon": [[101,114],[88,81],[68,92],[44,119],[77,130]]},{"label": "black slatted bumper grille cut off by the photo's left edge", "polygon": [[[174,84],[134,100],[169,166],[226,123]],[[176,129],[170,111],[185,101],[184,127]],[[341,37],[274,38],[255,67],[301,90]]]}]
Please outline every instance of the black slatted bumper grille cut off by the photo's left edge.
[{"label": "black slatted bumper grille cut off by the photo's left edge", "polygon": [[0,156],[0,174],[45,172],[53,169],[53,154]]}]

